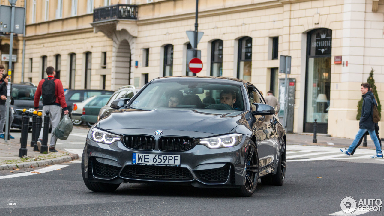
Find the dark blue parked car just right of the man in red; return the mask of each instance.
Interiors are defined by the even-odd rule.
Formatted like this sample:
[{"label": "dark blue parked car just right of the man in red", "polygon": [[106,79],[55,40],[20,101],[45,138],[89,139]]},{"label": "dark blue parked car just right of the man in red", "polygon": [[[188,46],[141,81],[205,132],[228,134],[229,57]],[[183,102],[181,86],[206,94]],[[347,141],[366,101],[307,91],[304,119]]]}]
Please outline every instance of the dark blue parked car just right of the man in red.
[{"label": "dark blue parked car just right of the man in red", "polygon": [[[81,123],[81,114],[80,113],[73,113],[73,103],[76,102],[81,102],[91,96],[94,95],[112,95],[113,91],[108,91],[108,90],[91,90],[91,89],[68,89],[65,90],[64,95],[65,95],[65,101],[68,106],[68,111],[71,114],[72,122],[75,125],[80,125]],[[72,116],[73,115],[73,116]]]}]

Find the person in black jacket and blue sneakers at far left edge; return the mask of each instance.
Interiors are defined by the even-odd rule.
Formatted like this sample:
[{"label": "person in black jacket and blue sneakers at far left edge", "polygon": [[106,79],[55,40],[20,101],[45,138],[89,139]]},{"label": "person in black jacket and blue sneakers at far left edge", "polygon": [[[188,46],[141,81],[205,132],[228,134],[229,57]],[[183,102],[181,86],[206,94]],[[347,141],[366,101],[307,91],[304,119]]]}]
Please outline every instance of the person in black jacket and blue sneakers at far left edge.
[{"label": "person in black jacket and blue sneakers at far left edge", "polygon": [[[7,121],[7,91],[8,91],[8,75],[3,74],[2,83],[0,84],[0,138],[4,139],[4,125],[5,121]],[[13,98],[11,96],[11,105],[13,105]],[[11,126],[13,122],[13,113],[12,107],[9,108],[9,125]],[[8,130],[8,128],[5,128]],[[11,139],[15,139],[13,136],[9,135]]]}]

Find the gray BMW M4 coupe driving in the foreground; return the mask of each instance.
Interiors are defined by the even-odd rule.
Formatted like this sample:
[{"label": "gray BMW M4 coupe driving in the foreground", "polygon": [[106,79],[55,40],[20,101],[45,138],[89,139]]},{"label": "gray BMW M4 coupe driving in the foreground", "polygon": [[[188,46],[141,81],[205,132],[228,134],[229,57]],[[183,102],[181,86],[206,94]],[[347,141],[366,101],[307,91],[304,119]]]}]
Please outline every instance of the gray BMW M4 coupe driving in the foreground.
[{"label": "gray BMW M4 coupe driving in the foreground", "polygon": [[162,77],[111,107],[86,139],[81,168],[91,191],[174,183],[252,196],[259,178],[284,183],[285,130],[246,80]]}]

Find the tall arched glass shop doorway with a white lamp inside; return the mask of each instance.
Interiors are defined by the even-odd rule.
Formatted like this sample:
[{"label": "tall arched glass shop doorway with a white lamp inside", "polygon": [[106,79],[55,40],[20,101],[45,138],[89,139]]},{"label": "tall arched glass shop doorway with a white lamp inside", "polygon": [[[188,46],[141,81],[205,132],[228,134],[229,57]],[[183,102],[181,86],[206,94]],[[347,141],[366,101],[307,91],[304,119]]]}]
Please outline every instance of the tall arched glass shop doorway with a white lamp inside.
[{"label": "tall arched glass shop doorway with a white lamp inside", "polygon": [[331,96],[332,30],[318,28],[307,34],[304,132],[328,132],[328,110]]}]

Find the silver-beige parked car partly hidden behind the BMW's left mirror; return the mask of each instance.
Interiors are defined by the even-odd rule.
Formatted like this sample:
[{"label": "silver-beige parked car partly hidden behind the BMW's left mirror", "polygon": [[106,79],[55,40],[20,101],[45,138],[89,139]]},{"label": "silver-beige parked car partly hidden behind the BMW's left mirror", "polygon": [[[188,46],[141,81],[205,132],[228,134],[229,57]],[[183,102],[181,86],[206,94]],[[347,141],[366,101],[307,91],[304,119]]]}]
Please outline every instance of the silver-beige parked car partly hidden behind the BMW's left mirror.
[{"label": "silver-beige parked car partly hidden behind the BMW's left mirror", "polygon": [[98,120],[104,118],[105,116],[108,116],[109,113],[114,111],[114,109],[111,108],[111,103],[114,100],[121,99],[121,98],[132,98],[139,90],[136,89],[134,86],[127,85],[122,86],[116,90],[111,98],[109,98],[109,101],[103,108],[100,109]]}]

